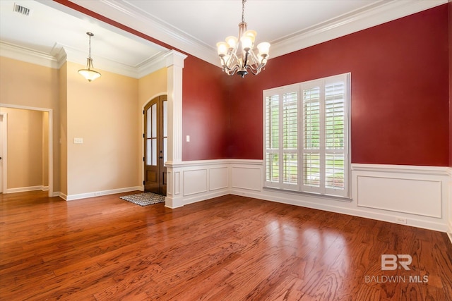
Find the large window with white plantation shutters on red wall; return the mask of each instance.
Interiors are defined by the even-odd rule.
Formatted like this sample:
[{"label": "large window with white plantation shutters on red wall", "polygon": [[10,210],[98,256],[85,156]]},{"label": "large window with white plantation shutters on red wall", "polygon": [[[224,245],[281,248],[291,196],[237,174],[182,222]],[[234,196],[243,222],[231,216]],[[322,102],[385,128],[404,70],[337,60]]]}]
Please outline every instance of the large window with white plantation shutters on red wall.
[{"label": "large window with white plantation shutters on red wall", "polygon": [[349,197],[350,73],[263,91],[264,186]]}]

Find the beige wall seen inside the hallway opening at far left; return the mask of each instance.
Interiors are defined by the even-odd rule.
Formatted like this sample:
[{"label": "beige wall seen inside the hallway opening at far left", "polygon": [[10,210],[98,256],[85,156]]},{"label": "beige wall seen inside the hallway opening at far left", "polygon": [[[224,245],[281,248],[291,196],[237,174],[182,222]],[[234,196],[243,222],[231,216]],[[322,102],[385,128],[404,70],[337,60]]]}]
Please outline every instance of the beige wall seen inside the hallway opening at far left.
[{"label": "beige wall seen inside the hallway opening at far left", "polygon": [[[8,189],[48,185],[48,114],[42,111],[0,108],[8,114]],[[47,132],[47,133],[44,133]],[[48,143],[48,140],[47,140]],[[47,166],[45,166],[47,164]]]}]

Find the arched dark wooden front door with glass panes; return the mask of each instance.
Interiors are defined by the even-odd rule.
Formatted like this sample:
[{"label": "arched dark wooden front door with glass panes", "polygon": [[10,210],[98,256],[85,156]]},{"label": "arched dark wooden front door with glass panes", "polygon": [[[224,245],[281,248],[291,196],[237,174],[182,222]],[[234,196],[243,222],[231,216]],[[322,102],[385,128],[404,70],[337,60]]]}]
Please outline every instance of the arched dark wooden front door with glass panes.
[{"label": "arched dark wooden front door with glass panes", "polygon": [[167,195],[167,96],[152,99],[144,108],[144,190]]}]

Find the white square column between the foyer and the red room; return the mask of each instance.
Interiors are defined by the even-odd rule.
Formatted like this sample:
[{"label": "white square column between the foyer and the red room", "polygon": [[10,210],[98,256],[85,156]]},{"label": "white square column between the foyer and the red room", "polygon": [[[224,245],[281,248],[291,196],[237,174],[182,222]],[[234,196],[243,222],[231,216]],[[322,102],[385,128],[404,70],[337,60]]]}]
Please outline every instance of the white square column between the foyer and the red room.
[{"label": "white square column between the foyer and the red room", "polygon": [[167,60],[168,85],[168,152],[167,152],[167,197],[165,206],[177,208],[184,206],[181,171],[177,165],[182,162],[182,69],[185,54],[169,51]]}]

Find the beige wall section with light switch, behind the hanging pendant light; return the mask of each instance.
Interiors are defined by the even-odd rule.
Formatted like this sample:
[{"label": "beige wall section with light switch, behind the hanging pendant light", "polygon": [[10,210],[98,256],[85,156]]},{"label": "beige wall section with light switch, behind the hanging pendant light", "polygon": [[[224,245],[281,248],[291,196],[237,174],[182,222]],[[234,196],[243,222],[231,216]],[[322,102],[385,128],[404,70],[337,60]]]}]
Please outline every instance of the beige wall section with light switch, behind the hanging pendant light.
[{"label": "beige wall section with light switch, behind the hanging pendant light", "polygon": [[67,195],[136,187],[138,80],[99,70],[88,82],[80,68],[67,63]]}]

